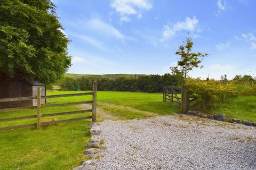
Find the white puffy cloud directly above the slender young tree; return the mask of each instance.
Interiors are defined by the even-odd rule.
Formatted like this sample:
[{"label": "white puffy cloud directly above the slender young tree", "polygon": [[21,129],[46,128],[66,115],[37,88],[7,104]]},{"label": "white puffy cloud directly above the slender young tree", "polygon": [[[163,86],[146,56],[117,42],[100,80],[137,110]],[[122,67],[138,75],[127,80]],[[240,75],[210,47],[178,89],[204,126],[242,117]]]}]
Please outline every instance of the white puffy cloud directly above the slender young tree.
[{"label": "white puffy cloud directly above the slender young tree", "polygon": [[198,20],[196,19],[196,16],[193,16],[193,19],[190,19],[189,17],[186,18],[184,22],[179,21],[174,23],[173,25],[171,24],[166,24],[163,27],[162,31],[162,41],[169,39],[173,36],[175,36],[177,31],[201,31],[198,28]]}]

